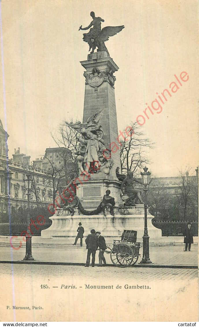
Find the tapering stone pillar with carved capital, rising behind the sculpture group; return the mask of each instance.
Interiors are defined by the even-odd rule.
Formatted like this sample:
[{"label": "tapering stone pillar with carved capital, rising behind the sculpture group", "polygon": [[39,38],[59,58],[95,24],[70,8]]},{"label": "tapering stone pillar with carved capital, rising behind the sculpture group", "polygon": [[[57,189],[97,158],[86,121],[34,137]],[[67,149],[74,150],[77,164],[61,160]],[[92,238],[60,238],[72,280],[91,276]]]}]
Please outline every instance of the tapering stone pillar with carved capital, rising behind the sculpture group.
[{"label": "tapering stone pillar with carved capital, rising behind the sculpture group", "polygon": [[116,78],[113,74],[119,67],[105,51],[89,54],[88,59],[81,61],[81,64],[86,69],[83,123],[99,110],[103,110],[99,123],[103,130],[103,140],[111,148],[114,161],[110,175],[116,177],[115,169],[119,167],[121,171],[121,164],[115,105]]}]

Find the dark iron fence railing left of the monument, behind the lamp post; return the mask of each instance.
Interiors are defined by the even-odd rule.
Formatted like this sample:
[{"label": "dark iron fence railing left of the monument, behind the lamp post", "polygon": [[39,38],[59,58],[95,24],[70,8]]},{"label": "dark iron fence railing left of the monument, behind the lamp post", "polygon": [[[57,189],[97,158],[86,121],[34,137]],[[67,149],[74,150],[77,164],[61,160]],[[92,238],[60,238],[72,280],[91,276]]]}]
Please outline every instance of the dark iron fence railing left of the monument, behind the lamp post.
[{"label": "dark iron fence railing left of the monument, behind the lamp post", "polygon": [[41,231],[49,228],[52,225],[52,222],[45,223],[44,225],[39,225],[35,223],[34,225],[20,222],[12,222],[12,223],[0,223],[0,235],[5,236],[20,236],[21,233],[25,234],[25,231],[30,232],[28,226],[32,231],[32,236],[41,236]]}]

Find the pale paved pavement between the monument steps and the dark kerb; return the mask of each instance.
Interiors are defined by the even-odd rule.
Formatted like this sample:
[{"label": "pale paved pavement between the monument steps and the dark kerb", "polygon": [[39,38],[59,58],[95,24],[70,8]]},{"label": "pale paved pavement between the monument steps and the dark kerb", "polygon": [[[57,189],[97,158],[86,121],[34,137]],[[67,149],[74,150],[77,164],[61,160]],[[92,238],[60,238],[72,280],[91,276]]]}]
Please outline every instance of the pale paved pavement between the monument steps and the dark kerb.
[{"label": "pale paved pavement between the monument steps and the dark kerb", "polygon": [[[51,240],[43,240],[42,244],[38,245],[38,239],[34,240],[32,254],[35,259],[34,263],[71,263],[71,264],[84,264],[86,259],[87,250],[85,245],[81,248],[79,245],[72,246],[71,244],[64,244],[62,242],[53,243]],[[20,246],[20,238],[13,239],[12,244],[17,249]],[[46,241],[48,243],[43,243]],[[35,244],[34,244],[35,242]],[[50,243],[49,243],[50,242]],[[170,243],[170,245],[168,245]],[[181,239],[178,242],[173,242],[169,237],[166,238],[164,246],[150,246],[150,259],[153,266],[179,266],[179,267],[197,267],[198,265],[198,246],[197,240],[194,239],[194,244],[191,246],[191,251],[184,252],[184,244]],[[49,246],[50,244],[50,246]],[[176,244],[176,245],[174,245]],[[61,245],[61,247],[59,247]],[[96,253],[96,263],[98,263],[98,253]],[[142,248],[140,249],[142,259]],[[22,247],[19,250],[14,250],[9,244],[9,238],[0,238],[0,262],[2,261],[15,261],[21,262],[25,255],[25,243],[22,242]],[[107,264],[112,264],[110,254],[105,253]],[[140,262],[138,260],[136,266]],[[140,267],[140,265],[139,265]],[[154,268],[155,269],[155,268]]]}]

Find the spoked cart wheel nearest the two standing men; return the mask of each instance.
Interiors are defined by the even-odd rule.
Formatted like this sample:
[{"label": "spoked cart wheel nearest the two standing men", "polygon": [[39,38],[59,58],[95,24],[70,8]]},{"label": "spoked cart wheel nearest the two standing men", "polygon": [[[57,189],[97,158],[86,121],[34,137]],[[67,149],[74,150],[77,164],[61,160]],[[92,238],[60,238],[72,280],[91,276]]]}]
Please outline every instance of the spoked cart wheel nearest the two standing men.
[{"label": "spoked cart wheel nearest the two standing men", "polygon": [[119,243],[113,247],[110,256],[115,266],[127,267],[133,261],[134,251],[128,244]]}]

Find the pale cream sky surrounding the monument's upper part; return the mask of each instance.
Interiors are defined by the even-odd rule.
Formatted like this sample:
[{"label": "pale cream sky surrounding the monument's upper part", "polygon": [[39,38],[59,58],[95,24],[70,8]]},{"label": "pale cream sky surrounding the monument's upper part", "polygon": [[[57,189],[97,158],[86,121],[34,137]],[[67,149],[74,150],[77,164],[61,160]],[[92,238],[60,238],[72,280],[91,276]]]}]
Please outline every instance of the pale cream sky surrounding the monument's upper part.
[{"label": "pale cream sky surrounding the monument's upper part", "polygon": [[[85,78],[80,61],[89,46],[79,26],[90,11],[105,26],[125,28],[106,42],[115,73],[118,130],[143,115],[182,72],[189,76],[162,104],[148,112],[143,131],[154,176],[177,176],[198,165],[198,3],[195,0],[2,0],[0,119],[14,148],[31,156],[54,147],[61,121],[82,120]],[[174,76],[176,75],[176,77]],[[157,95],[158,93],[158,95]],[[147,103],[147,105],[146,105]],[[155,106],[155,104],[154,104]]]}]

